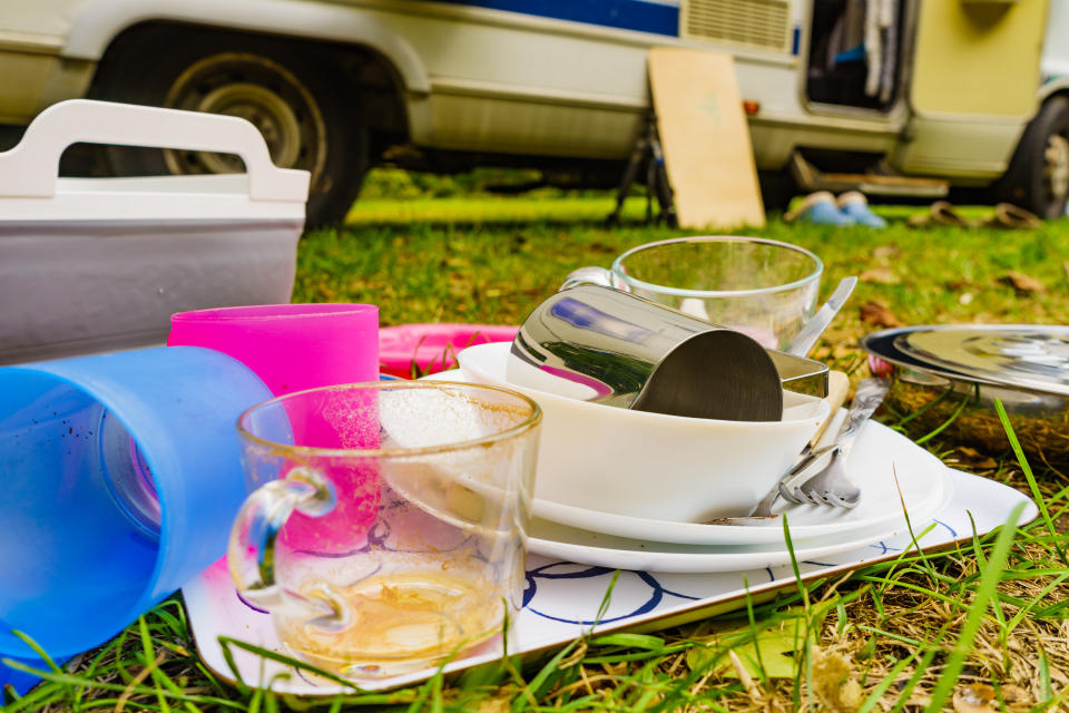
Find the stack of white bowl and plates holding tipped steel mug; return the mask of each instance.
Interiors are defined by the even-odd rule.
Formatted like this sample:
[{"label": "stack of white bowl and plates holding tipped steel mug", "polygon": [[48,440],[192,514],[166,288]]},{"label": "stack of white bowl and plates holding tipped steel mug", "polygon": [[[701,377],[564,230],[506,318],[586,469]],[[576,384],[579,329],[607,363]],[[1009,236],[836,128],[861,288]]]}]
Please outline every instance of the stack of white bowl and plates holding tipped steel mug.
[{"label": "stack of white bowl and plates holding tipped steel mug", "polygon": [[[802,358],[628,292],[572,282],[531,312],[512,344],[469,348],[459,355],[460,373],[444,377],[514,389],[542,407],[532,551],[601,566],[732,568],[751,560],[716,555],[739,555],[730,548],[744,547],[767,563],[788,556],[782,520],[790,517],[781,515],[801,520],[800,541],[834,548],[851,534],[903,526],[903,509],[928,517],[943,501],[938,461],[913,463],[899,478],[893,462],[872,459],[876,446],[870,445],[838,463],[840,485],[853,494],[849,504],[781,502],[769,511],[766,495],[787,473],[803,485],[793,468],[806,451],[837,443],[847,421],[864,431],[860,417],[838,414],[845,389],[836,390],[835,424],[827,428],[834,395],[788,390],[794,384],[772,359]],[[840,284],[831,314],[851,289],[851,280]],[[822,329],[814,322],[800,332]],[[687,348],[703,339],[707,349],[688,360]],[[759,397],[766,385],[775,399],[747,402],[736,393]],[[772,408],[758,414],[762,406]],[[863,488],[851,482],[864,477]],[[634,541],[606,545],[607,537]],[[717,546],[728,549],[686,549]],[[636,548],[643,557],[627,554]],[[656,551],[666,557],[649,559]]]}]

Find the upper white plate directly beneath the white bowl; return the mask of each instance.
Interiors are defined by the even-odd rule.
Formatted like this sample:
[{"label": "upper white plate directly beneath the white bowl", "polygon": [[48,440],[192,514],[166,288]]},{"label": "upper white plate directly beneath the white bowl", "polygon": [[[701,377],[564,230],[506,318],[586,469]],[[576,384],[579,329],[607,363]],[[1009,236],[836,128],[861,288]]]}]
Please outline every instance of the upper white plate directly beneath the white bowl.
[{"label": "upper white plate directly beneath the white bowl", "polygon": [[[847,510],[791,505],[781,499],[774,511],[787,514],[793,539],[904,526],[899,487],[913,521],[931,517],[944,500],[943,463],[882,423],[870,421],[862,429],[846,463],[861,488],[861,502]],[[680,545],[783,545],[779,518],[746,526],[702,525],[628,517],[540,499],[533,506],[536,517],[618,537]]]}]

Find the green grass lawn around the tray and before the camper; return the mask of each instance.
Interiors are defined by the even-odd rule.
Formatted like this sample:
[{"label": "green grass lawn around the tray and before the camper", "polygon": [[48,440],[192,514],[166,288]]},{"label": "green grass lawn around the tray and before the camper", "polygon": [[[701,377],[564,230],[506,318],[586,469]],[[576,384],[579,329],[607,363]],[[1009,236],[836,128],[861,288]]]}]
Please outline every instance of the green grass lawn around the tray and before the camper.
[{"label": "green grass lawn around the tray and before the camper", "polygon": [[[606,229],[611,199],[604,195],[415,194],[357,203],[346,227],[305,236],[294,300],[373,302],[383,324],[518,323],[570,270],[607,266],[627,247],[687,233],[636,223],[644,205],[635,198],[629,223]],[[1013,233],[774,219],[739,232],[816,252],[827,267],[825,292],[874,268],[898,281],[863,282],[820,345],[817,355],[854,368],[856,338],[874,329],[859,318],[870,300],[905,323],[1069,323],[1067,231],[1065,221]],[[1018,294],[1001,281],[1011,271],[1043,292]],[[942,434],[925,442],[957,467],[978,462],[961,446]],[[1066,516],[1066,477],[1024,468],[1013,452],[980,456],[993,459],[980,466],[984,475],[1037,494],[1045,517],[938,556],[903,555],[843,580],[800,584],[772,603],[657,635],[577,641],[521,670],[435,677],[389,694],[297,701],[216,678],[196,657],[175,597],[6,710],[914,711],[952,710],[967,684],[991,686],[1006,710],[1053,710],[1069,690],[1069,570],[1055,531]]]}]

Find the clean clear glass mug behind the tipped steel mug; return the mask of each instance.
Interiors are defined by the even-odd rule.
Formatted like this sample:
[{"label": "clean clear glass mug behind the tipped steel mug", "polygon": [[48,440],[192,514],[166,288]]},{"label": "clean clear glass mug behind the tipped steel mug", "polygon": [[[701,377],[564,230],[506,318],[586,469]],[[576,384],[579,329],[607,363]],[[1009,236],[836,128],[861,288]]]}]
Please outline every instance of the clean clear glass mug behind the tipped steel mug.
[{"label": "clean clear glass mug behind the tipped steel mug", "polygon": [[580,267],[561,290],[616,287],[783,349],[816,309],[824,264],[761,237],[676,237],[632,247],[612,267]]}]

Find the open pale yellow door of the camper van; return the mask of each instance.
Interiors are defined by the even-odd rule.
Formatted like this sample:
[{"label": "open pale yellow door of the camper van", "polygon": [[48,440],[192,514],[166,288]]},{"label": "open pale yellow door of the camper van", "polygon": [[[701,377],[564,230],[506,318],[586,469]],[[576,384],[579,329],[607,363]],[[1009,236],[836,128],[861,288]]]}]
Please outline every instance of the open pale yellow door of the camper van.
[{"label": "open pale yellow door of the camper van", "polygon": [[908,174],[984,185],[1036,113],[1047,0],[922,0],[910,75]]}]

